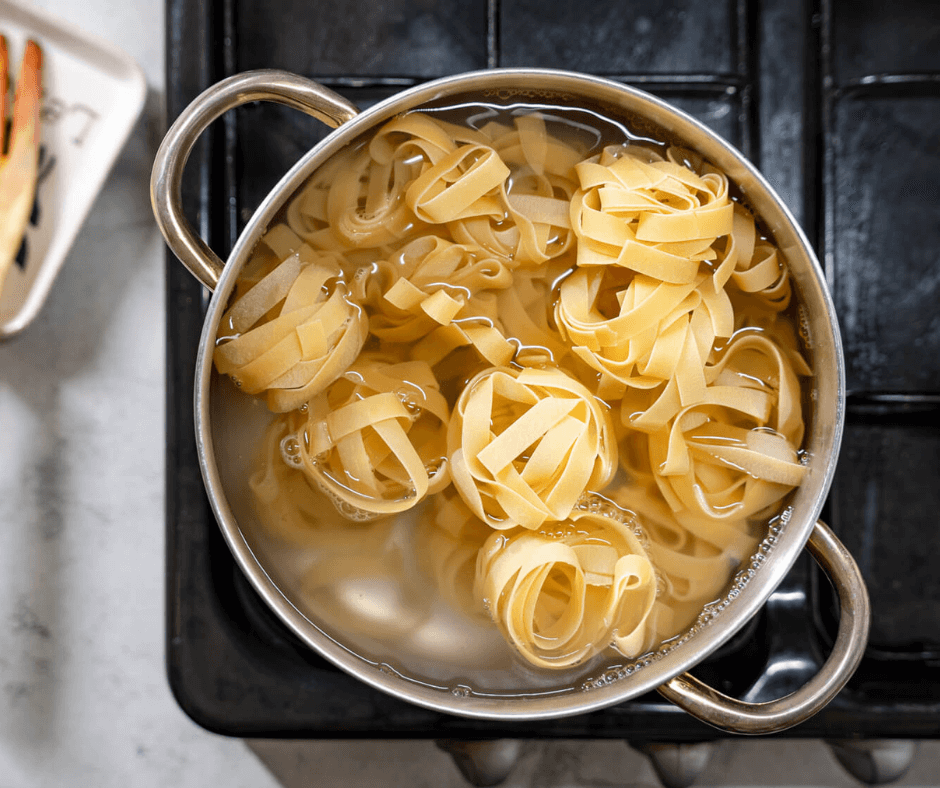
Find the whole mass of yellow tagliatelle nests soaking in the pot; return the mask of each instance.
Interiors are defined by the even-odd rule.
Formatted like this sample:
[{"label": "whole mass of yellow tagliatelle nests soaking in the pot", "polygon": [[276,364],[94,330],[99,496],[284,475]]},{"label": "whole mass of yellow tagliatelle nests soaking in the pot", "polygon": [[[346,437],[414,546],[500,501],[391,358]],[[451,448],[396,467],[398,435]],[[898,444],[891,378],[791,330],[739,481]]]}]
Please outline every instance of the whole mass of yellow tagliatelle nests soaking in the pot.
[{"label": "whole mass of yellow tagliatelle nests soaking in the pot", "polygon": [[541,668],[639,656],[718,595],[807,473],[810,374],[786,266],[723,173],[557,122],[411,113],[339,154],[215,351],[281,414],[265,527],[317,544],[318,491],[351,521],[433,497],[415,540],[440,595]]}]

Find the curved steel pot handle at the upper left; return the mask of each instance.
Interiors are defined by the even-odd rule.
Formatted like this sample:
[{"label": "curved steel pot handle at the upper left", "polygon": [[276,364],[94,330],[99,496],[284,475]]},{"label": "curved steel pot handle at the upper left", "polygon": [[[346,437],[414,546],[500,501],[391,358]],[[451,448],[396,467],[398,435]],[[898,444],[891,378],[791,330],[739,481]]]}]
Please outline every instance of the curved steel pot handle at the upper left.
[{"label": "curved steel pot handle at the upper left", "polygon": [[214,290],[225,265],[183,216],[183,168],[206,127],[230,109],[252,101],[273,101],[302,110],[336,128],[359,114],[355,105],[329,88],[287,71],[263,69],[223,79],[203,91],[170,127],[153,163],[150,201],[157,226],[173,253]]}]

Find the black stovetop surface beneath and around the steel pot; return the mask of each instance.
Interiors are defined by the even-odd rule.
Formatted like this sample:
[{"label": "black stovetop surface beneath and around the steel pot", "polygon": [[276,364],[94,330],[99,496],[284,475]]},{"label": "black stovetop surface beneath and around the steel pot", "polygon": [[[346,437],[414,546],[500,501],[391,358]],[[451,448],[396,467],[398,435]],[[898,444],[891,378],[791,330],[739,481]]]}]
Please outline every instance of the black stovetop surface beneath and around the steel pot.
[{"label": "black stovetop surface beneath and around the steel pot", "polygon": [[[172,120],[251,68],[285,68],[367,106],[434,77],[567,68],[647,89],[757,163],[813,240],[839,314],[849,390],[825,515],[859,562],[871,641],[849,686],[786,735],[940,735],[940,4],[931,0],[167,0]],[[274,105],[230,113],[187,171],[188,214],[223,257],[325,131]],[[436,714],[337,671],[235,566],[203,490],[192,391],[204,308],[168,254],[167,662],[201,725],[237,736],[721,736],[648,695],[510,725]],[[835,630],[802,558],[756,619],[696,674],[752,701],[814,673]]]}]

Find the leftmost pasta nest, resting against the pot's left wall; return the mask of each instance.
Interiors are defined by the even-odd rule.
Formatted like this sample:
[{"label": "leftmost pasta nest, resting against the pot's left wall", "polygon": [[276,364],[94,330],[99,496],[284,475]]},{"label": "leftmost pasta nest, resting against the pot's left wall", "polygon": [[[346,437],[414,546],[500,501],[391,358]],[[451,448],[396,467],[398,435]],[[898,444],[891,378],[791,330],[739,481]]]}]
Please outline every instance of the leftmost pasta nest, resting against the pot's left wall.
[{"label": "leftmost pasta nest, resting against the pot's left wall", "polygon": [[[284,225],[278,263],[237,293],[220,321],[213,360],[246,394],[263,394],[283,413],[322,392],[352,364],[368,334],[366,314],[350,298],[332,257],[318,255]],[[286,231],[283,232],[283,231]],[[293,239],[285,237],[286,234]]]}]

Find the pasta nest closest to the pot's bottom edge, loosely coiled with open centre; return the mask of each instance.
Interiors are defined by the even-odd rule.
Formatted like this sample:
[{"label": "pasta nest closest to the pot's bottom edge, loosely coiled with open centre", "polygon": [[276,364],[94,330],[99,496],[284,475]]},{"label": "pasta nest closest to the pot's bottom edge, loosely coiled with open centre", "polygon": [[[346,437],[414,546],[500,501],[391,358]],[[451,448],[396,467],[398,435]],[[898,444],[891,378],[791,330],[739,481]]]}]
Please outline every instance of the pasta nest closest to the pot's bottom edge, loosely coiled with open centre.
[{"label": "pasta nest closest to the pot's bottom edge, loosely coiled with open centre", "polygon": [[575,511],[539,532],[493,534],[479,554],[476,595],[528,662],[557,669],[608,645],[642,654],[656,575],[622,519]]}]

